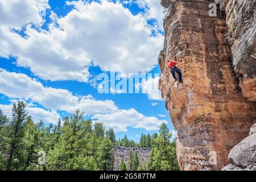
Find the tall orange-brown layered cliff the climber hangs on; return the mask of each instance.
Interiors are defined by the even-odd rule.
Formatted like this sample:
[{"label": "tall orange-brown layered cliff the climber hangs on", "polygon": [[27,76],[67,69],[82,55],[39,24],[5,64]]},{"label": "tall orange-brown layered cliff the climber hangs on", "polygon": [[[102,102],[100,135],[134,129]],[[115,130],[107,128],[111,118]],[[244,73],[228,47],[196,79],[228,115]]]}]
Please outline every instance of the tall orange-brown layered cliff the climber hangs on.
[{"label": "tall orange-brown layered cliff the climber hangs on", "polygon": [[[229,151],[247,137],[256,121],[256,104],[243,97],[238,85],[220,7],[217,17],[210,17],[208,6],[214,0],[169,2],[158,59],[159,89],[177,130],[179,166],[220,170],[228,164]],[[181,61],[177,67],[183,85],[175,84],[167,67],[170,55]]]}]

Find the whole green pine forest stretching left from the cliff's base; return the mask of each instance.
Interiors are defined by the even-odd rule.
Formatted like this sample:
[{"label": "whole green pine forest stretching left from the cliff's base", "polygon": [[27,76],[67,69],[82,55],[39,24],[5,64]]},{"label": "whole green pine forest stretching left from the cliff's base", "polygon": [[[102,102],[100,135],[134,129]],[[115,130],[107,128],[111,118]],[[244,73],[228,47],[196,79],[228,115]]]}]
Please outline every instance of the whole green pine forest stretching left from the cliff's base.
[{"label": "whole green pine forest stretching left from the cliff's base", "polygon": [[[145,137],[138,146],[152,148],[148,166],[140,166],[137,154],[130,154],[130,162],[119,164],[120,170],[179,169],[175,141],[170,141],[164,123],[159,136]],[[122,140],[122,144],[137,145],[127,137]],[[105,130],[101,122],[84,119],[80,110],[56,125],[32,121],[23,101],[13,105],[11,118],[0,110],[0,170],[113,170],[113,146],[120,142],[113,129]]]}]

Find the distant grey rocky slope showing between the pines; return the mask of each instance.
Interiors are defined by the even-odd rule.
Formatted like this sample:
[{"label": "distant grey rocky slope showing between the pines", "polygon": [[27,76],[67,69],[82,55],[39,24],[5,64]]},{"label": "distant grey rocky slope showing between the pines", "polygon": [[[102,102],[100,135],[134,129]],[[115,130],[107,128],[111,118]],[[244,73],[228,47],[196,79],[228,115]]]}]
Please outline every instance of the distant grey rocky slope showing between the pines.
[{"label": "distant grey rocky slope showing between the pines", "polygon": [[114,146],[114,168],[113,168],[114,171],[118,170],[118,166],[119,166],[119,163],[121,162],[121,159],[124,160],[127,167],[130,151],[137,152],[139,162],[142,165],[147,164],[147,161],[148,161],[148,158],[150,157],[150,152],[151,152],[150,148]]}]

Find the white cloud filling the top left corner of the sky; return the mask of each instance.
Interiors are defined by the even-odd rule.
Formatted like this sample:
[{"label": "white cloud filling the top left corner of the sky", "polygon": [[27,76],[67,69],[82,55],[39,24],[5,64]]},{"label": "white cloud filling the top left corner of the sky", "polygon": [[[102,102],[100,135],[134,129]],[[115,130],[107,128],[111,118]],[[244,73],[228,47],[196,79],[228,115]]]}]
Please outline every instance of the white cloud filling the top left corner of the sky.
[{"label": "white cloud filling the top left corner of the sky", "polygon": [[48,8],[48,0],[1,0],[0,26],[20,29],[33,23],[39,27]]}]

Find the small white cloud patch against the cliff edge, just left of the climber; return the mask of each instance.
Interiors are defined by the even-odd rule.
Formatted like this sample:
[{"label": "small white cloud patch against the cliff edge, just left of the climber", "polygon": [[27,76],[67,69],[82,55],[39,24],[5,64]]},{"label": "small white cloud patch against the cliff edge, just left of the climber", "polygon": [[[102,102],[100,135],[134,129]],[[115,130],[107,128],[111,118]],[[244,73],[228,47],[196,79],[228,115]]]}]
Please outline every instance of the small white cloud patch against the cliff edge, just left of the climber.
[{"label": "small white cloud patch against the cliff edge, just left of the climber", "polygon": [[143,80],[141,83],[142,92],[148,95],[148,99],[150,100],[162,100],[161,92],[158,89],[158,81],[159,77],[155,78],[147,78],[147,80]]}]

